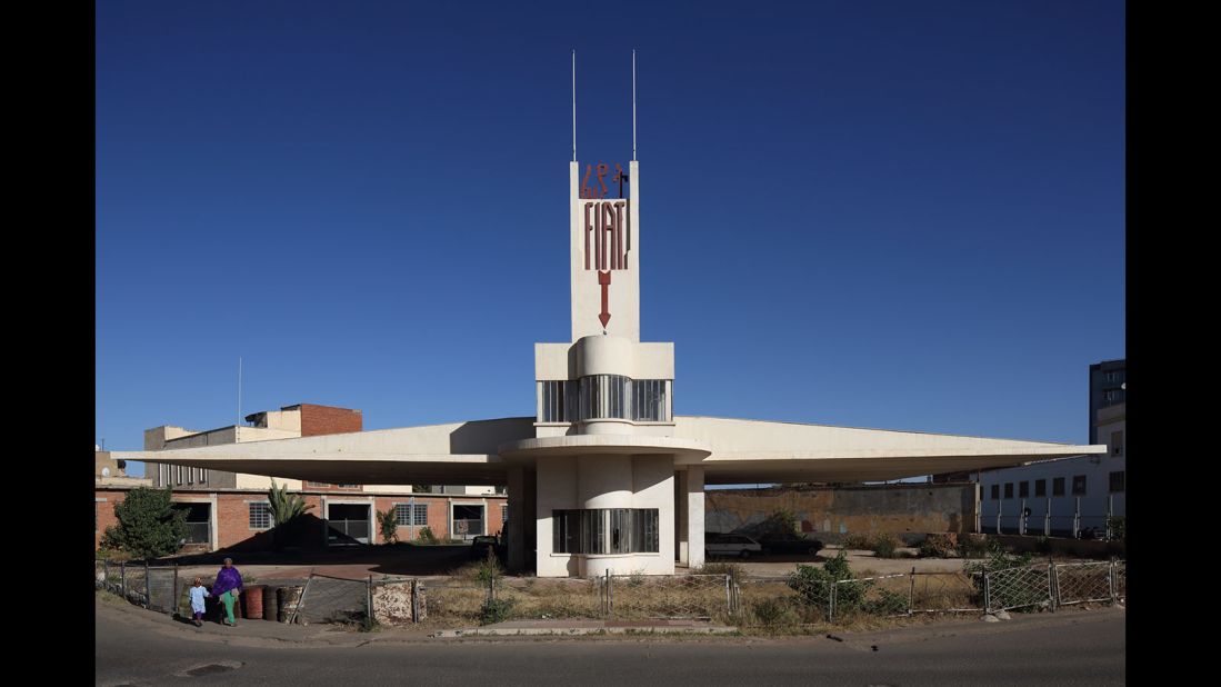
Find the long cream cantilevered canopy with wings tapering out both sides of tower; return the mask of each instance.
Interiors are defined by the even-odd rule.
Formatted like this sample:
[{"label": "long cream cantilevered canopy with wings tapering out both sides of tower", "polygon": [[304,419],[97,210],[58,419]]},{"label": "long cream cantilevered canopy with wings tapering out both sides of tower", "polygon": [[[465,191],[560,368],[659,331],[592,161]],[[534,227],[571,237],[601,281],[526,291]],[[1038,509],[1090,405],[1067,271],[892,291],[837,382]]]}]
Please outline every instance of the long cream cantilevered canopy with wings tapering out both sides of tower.
[{"label": "long cream cantilevered canopy with wings tapering out both sides of tower", "polygon": [[819,424],[675,417],[673,436],[536,439],[534,418],[503,418],[165,451],[115,458],[333,484],[507,484],[541,456],[668,454],[707,484],[863,482],[1105,454],[1106,446]]}]

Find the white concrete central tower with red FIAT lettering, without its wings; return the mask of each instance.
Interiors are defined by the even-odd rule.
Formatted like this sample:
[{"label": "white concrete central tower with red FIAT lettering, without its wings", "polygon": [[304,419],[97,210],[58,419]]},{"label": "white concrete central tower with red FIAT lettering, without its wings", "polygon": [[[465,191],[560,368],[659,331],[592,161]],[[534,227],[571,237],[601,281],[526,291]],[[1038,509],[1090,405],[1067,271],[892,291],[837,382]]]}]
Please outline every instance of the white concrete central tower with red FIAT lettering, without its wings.
[{"label": "white concrete central tower with red FIAT lettering, without its wings", "polygon": [[640,165],[626,167],[570,163],[573,340],[535,344],[536,438],[501,450],[523,465],[521,493],[535,487],[521,535],[540,577],[672,575],[703,557],[702,468],[676,476],[674,458],[708,451],[674,438],[674,345],[640,341]]}]

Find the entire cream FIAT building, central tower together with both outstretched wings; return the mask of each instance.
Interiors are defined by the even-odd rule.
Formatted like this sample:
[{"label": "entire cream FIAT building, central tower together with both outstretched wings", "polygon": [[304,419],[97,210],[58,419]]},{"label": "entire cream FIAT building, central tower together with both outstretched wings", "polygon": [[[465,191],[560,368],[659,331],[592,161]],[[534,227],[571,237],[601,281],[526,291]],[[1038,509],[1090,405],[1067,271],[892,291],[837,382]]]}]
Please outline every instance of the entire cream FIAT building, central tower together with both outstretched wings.
[{"label": "entire cream FIAT building, central tower together with both outstretched wings", "polygon": [[535,344],[534,417],[123,460],[337,484],[507,485],[509,567],[673,575],[703,562],[706,484],[860,482],[1105,446],[676,416],[674,344],[641,341],[640,165],[569,164],[571,341]]}]

